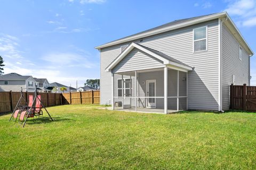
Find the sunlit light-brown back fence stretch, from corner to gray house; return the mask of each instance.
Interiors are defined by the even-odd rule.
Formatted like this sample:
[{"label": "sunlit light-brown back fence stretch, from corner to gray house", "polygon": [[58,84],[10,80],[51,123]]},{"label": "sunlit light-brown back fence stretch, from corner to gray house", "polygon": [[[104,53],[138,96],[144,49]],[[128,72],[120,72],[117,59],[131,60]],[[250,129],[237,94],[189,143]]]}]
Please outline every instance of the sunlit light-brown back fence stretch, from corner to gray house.
[{"label": "sunlit light-brown back fence stretch, from corner to gray house", "polygon": [[100,91],[62,93],[63,104],[99,104]]}]

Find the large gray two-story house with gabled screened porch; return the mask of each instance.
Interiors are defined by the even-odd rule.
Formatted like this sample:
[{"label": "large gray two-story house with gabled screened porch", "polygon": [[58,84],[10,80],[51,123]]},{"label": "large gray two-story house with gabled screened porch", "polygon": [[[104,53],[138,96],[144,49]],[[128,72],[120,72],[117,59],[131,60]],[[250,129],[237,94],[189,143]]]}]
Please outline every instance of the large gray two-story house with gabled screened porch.
[{"label": "large gray two-story house with gabled screened porch", "polygon": [[113,109],[122,102],[165,114],[228,110],[231,83],[250,85],[253,52],[226,12],[175,20],[95,48],[100,104]]}]

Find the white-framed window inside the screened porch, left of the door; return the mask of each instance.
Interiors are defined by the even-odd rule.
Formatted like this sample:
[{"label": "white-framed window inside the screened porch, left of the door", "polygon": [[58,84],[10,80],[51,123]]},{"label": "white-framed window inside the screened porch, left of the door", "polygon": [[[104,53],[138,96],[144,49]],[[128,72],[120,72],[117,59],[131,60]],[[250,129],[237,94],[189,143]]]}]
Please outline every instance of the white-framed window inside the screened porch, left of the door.
[{"label": "white-framed window inside the screened porch, left of the door", "polygon": [[[130,85],[131,85],[131,91],[130,91]],[[125,78],[124,79],[124,91],[122,91],[122,79],[117,79],[117,96],[122,97],[130,97],[132,96],[132,79]]]}]

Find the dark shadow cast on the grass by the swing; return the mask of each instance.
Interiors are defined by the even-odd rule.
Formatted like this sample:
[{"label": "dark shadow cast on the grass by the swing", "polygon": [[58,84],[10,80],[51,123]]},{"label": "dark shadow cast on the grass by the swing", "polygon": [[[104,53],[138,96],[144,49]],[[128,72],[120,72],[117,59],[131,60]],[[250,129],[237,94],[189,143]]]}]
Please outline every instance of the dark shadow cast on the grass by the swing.
[{"label": "dark shadow cast on the grass by the swing", "polygon": [[33,124],[47,124],[52,122],[67,122],[67,121],[76,121],[74,119],[68,118],[61,118],[61,117],[52,117],[53,121],[50,117],[38,117],[35,119],[28,119],[26,124],[33,125]]}]

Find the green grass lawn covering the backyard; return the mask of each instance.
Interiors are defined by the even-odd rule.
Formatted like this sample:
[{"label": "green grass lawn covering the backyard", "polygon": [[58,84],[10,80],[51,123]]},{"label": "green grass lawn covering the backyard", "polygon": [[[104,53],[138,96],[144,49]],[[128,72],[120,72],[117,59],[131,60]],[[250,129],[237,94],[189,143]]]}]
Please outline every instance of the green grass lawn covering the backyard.
[{"label": "green grass lawn covering the backyard", "polygon": [[256,114],[51,107],[25,128],[0,116],[0,169],[256,169]]}]

